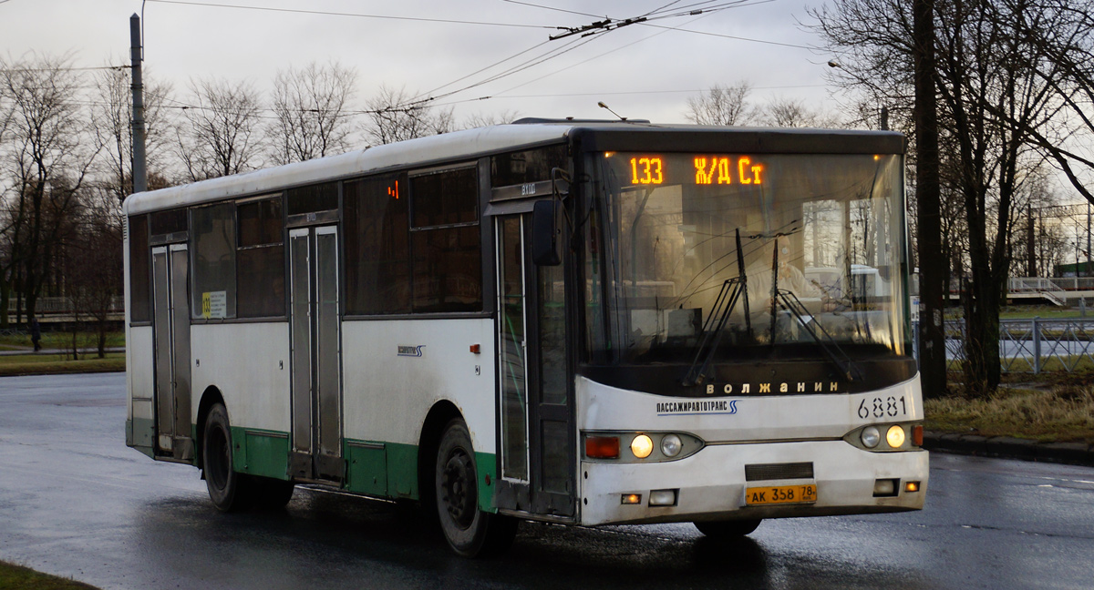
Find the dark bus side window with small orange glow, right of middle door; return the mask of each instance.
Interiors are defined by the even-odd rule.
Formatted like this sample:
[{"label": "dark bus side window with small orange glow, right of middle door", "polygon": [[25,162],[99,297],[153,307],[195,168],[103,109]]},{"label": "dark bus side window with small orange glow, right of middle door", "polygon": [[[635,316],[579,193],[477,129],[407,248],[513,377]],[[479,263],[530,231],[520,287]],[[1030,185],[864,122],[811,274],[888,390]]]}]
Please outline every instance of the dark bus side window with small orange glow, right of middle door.
[{"label": "dark bus side window with small orange glow, right of middle door", "polygon": [[410,312],[410,222],[407,175],[347,181],[346,312]]}]

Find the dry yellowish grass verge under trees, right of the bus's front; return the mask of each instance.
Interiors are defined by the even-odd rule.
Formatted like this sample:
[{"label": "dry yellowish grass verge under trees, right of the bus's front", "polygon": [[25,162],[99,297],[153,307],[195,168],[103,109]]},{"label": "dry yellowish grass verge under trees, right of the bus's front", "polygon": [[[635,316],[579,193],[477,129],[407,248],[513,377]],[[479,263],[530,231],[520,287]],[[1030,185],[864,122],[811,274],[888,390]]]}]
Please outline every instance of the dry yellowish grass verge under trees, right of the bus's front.
[{"label": "dry yellowish grass verge under trees, right of the bus's front", "polygon": [[988,399],[954,396],[927,400],[924,427],[1041,442],[1094,444],[1094,385],[1089,384],[1004,386]]}]

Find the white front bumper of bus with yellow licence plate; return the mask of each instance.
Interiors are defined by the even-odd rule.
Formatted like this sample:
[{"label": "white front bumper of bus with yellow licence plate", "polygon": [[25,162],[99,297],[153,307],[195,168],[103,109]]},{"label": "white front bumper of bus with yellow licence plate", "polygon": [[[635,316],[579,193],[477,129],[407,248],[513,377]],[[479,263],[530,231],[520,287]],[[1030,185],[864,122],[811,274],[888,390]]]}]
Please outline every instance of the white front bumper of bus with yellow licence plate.
[{"label": "white front bumper of bus with yellow licence plate", "polygon": [[[790,463],[811,463],[813,476],[745,481],[746,465]],[[869,452],[842,440],[709,445],[677,461],[582,461],[579,480],[586,526],[894,512],[922,509],[928,452]],[[813,486],[813,502],[800,502],[801,486]],[[787,498],[791,491],[799,496]],[[789,502],[754,504],[773,495]],[[675,504],[651,506],[668,498]]]}]

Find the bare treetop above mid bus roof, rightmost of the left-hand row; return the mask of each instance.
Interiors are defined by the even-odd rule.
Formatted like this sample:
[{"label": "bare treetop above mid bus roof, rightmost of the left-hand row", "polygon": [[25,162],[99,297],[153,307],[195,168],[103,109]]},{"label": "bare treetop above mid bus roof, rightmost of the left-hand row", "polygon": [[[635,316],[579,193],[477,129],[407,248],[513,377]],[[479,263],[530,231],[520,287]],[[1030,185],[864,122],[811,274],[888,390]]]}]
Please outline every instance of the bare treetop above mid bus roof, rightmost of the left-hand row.
[{"label": "bare treetop above mid bus roof, rightmost of the left-hand row", "polygon": [[373,144],[393,143],[455,129],[452,107],[437,109],[416,103],[405,87],[381,86],[369,99],[365,135]]}]

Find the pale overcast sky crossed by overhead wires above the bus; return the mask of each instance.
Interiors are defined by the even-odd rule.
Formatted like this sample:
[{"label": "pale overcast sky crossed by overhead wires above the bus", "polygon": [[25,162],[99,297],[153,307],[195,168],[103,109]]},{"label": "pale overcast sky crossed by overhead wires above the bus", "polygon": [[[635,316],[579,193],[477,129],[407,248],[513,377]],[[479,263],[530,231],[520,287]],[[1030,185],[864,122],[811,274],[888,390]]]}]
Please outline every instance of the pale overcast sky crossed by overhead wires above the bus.
[{"label": "pale overcast sky crossed by overhead wires above the bus", "polygon": [[[679,122],[688,96],[713,84],[747,80],[755,87],[755,103],[783,96],[836,108],[823,79],[829,56],[787,46],[818,44],[800,23],[811,23],[805,7],[823,4],[823,0],[745,0],[740,2],[743,5],[710,14],[653,20],[598,36],[575,35],[548,42],[550,35],[561,32],[554,27],[587,25],[603,16],[640,16],[668,3],[147,0],[146,75],[170,81],[178,95],[185,93],[191,78],[210,75],[248,79],[266,90],[279,69],[337,60],[358,71],[358,98],[363,102],[381,84],[405,86],[415,94],[443,86],[432,94],[435,96],[480,82],[503,68],[547,57],[548,51],[566,50],[512,75],[439,97],[435,103],[454,105],[457,118],[502,111],[539,117],[610,117],[596,106],[603,101],[625,117]],[[730,3],[682,0],[667,13]],[[32,50],[55,56],[71,52],[74,64],[80,67],[127,64],[129,16],[140,13],[141,8],[140,0],[0,0],[0,51],[8,58]],[[525,50],[499,67],[456,82]],[[492,98],[477,101],[482,96]]]}]

